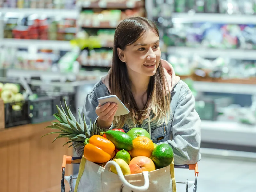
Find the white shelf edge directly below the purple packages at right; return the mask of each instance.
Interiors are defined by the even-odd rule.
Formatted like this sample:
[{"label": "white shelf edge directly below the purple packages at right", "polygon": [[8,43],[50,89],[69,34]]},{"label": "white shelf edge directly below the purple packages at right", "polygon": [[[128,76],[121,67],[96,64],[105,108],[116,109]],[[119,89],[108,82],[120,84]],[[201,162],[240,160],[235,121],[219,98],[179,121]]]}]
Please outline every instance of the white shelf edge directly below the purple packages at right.
[{"label": "white shelf edge directly below the purple packages at right", "polygon": [[204,58],[230,57],[232,59],[256,60],[256,50],[214,49],[206,47],[168,47],[167,53],[182,54],[183,56],[199,55]]}]

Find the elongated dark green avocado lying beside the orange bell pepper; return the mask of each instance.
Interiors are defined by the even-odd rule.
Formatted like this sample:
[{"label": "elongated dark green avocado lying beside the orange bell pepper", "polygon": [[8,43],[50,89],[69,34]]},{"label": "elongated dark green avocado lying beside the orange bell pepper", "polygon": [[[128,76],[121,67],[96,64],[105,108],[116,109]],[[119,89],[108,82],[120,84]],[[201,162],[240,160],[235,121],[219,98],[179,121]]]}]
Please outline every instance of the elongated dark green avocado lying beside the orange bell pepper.
[{"label": "elongated dark green avocado lying beside the orange bell pepper", "polygon": [[110,140],[118,150],[130,151],[133,148],[132,138],[121,131],[108,130],[105,132],[106,137]]}]

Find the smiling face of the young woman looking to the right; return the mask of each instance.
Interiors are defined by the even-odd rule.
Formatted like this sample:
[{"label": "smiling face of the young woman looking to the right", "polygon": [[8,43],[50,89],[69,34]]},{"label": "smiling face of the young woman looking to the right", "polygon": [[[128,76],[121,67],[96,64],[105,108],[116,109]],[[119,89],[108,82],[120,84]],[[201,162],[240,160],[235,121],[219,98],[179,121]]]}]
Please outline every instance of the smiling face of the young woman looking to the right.
[{"label": "smiling face of the young woman looking to the right", "polygon": [[152,30],[148,30],[134,44],[118,52],[121,61],[126,63],[128,72],[153,76],[161,57],[159,37]]}]

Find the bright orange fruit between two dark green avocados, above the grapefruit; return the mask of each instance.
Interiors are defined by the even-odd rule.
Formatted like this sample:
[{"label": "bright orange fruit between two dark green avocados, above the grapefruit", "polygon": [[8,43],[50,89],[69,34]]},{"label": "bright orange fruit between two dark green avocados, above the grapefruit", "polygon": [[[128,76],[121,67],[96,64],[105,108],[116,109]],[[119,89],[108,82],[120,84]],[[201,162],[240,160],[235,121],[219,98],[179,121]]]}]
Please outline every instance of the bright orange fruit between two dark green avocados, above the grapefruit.
[{"label": "bright orange fruit between two dark green avocados, above the grapefruit", "polygon": [[148,137],[137,137],[132,140],[133,149],[130,150],[132,158],[137,156],[145,156],[150,158],[152,151],[154,150],[154,144]]}]

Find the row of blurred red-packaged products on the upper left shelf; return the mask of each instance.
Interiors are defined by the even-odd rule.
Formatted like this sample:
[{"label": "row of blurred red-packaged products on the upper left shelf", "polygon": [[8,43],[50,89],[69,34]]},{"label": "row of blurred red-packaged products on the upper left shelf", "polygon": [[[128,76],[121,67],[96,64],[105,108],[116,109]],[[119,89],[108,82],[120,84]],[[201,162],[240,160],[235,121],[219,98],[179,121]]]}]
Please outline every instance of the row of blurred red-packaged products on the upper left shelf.
[{"label": "row of blurred red-packaged products on the upper left shelf", "polygon": [[36,14],[22,17],[18,13],[8,13],[4,17],[4,38],[69,41],[75,34],[75,19],[46,18]]}]

